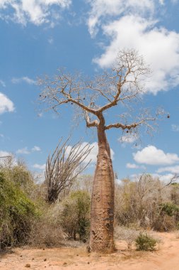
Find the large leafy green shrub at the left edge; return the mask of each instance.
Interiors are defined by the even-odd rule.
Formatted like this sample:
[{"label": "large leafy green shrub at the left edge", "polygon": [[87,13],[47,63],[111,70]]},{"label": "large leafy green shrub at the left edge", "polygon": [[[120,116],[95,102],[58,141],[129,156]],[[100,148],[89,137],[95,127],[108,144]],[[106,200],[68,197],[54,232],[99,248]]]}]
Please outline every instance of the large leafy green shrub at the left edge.
[{"label": "large leafy green shrub at the left edge", "polygon": [[21,188],[0,172],[0,249],[25,243],[38,215]]}]

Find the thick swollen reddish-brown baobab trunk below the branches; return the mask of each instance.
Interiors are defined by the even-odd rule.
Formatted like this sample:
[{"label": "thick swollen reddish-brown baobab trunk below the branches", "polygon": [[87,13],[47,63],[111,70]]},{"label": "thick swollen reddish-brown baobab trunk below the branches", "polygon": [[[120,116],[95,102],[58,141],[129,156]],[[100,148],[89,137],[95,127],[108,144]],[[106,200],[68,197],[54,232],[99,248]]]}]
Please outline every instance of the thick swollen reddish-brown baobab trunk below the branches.
[{"label": "thick swollen reddish-brown baobab trunk below the branches", "polygon": [[91,198],[90,249],[114,251],[114,173],[104,126],[98,126],[98,159]]}]

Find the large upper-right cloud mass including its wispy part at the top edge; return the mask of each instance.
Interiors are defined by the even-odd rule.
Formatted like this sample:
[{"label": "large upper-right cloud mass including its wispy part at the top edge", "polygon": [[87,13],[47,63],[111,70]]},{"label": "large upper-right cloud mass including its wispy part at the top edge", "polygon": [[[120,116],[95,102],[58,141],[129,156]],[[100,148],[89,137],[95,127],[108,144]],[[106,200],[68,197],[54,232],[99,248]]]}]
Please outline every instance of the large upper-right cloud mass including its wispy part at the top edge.
[{"label": "large upper-right cloud mass including its wispy part at the top edge", "polygon": [[152,76],[146,91],[154,95],[179,85],[179,33],[158,26],[155,14],[163,1],[93,0],[88,29],[95,36],[101,29],[108,40],[104,53],[93,59],[101,68],[109,68],[117,52],[134,48],[151,65]]}]

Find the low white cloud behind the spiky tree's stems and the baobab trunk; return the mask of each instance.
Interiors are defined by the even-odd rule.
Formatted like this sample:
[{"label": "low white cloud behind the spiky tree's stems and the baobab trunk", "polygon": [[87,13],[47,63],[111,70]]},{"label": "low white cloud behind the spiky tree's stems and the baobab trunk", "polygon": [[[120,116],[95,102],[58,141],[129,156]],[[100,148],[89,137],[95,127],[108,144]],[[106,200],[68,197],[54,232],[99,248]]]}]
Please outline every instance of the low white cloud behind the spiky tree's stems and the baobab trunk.
[{"label": "low white cloud behind the spiky tree's stems and the baobab trunk", "polygon": [[[81,148],[83,148],[84,146],[86,146],[86,142],[83,142],[81,144]],[[83,161],[84,163],[88,163],[89,161],[91,161],[91,163],[96,163],[97,161],[97,155],[98,155],[98,143],[97,142],[94,142],[93,144],[89,144],[90,147],[93,147],[91,149],[91,152],[88,154],[88,156],[86,157],[86,159]],[[67,155],[69,154],[71,150],[71,146],[68,146],[67,148]],[[79,149],[80,150],[80,149]],[[111,153],[111,158],[113,159],[114,158],[114,151],[110,148],[110,153]]]}]

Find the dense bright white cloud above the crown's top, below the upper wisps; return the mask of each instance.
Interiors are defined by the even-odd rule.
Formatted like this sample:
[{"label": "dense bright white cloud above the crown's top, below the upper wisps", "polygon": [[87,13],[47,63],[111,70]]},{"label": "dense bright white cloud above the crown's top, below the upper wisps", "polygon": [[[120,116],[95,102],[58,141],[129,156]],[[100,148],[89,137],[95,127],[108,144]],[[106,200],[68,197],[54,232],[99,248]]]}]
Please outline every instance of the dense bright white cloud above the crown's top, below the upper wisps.
[{"label": "dense bright white cloud above the crown's top, below the upper wisps", "polygon": [[110,38],[110,45],[94,59],[101,68],[110,67],[119,50],[134,48],[153,71],[146,79],[146,91],[156,95],[179,84],[179,33],[157,28],[155,21],[132,15],[108,23],[103,32]]}]

